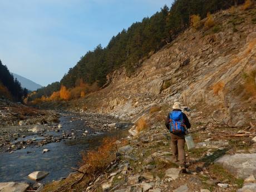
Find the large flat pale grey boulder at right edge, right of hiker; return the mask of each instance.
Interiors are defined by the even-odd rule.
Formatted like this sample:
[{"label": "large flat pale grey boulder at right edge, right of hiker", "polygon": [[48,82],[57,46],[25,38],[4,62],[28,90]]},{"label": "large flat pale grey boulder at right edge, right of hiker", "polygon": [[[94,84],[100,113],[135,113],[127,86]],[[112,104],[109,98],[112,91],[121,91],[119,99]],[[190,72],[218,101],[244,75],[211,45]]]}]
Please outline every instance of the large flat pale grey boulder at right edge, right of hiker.
[{"label": "large flat pale grey boulder at right edge, right of hiker", "polygon": [[256,153],[224,155],[216,163],[223,166],[237,178],[246,179],[256,172]]}]

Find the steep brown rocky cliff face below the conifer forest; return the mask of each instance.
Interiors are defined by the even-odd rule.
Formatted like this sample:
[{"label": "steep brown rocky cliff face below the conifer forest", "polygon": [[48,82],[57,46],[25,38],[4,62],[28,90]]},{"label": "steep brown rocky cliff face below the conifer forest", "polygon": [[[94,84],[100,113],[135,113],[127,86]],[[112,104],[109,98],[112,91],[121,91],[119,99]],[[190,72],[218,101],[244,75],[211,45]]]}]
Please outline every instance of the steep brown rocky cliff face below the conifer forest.
[{"label": "steep brown rocky cliff face below the conifer forest", "polygon": [[112,72],[109,86],[84,104],[134,117],[151,106],[171,106],[179,100],[194,110],[191,116],[197,110],[236,126],[255,121],[255,95],[246,88],[247,76],[256,70],[255,13],[254,8],[215,14],[215,27],[187,29],[131,77],[124,68]]}]

